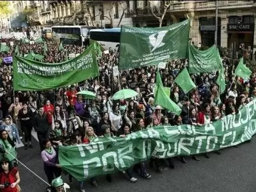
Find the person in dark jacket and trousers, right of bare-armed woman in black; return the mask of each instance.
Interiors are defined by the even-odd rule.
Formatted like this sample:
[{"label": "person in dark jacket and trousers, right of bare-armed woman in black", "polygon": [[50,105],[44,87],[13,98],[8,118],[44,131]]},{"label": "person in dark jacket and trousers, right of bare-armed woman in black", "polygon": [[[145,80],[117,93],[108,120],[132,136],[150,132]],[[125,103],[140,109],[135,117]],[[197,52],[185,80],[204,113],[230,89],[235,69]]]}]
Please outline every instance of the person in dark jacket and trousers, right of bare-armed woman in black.
[{"label": "person in dark jacket and trousers, right of bare-armed woman in black", "polygon": [[37,138],[40,145],[40,150],[44,150],[43,141],[49,139],[49,123],[44,106],[40,106],[38,113],[34,117],[34,128],[37,132]]}]

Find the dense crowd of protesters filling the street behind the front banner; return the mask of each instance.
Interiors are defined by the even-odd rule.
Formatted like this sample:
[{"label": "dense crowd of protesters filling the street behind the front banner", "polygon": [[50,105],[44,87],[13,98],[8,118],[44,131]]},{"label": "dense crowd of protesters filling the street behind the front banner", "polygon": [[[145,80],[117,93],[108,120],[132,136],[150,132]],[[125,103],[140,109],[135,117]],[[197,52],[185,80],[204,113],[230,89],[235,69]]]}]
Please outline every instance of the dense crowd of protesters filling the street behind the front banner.
[{"label": "dense crowd of protesters filling the street behind the front banner", "polygon": [[[65,51],[59,51],[60,43],[47,40],[44,44],[24,44],[20,40],[6,39],[14,42],[7,53],[0,53],[0,57],[13,56],[15,45],[19,45],[20,54],[35,53],[44,55],[45,63],[60,63],[66,60],[68,53],[81,53],[84,48],[77,45],[64,45]],[[149,66],[134,68],[120,72],[120,77],[113,77],[112,68],[118,65],[118,52],[109,49],[109,54],[102,54],[98,58],[100,76],[87,79],[78,84],[45,90],[43,92],[13,92],[12,65],[2,63],[0,67],[0,144],[7,141],[10,148],[24,140],[25,150],[33,148],[36,143],[31,142],[31,131],[35,129],[44,161],[44,170],[51,184],[55,177],[61,175],[61,165],[58,164],[58,145],[77,145],[90,143],[97,137],[115,137],[130,134],[153,127],[155,125],[204,125],[219,120],[225,115],[236,114],[256,97],[256,74],[251,79],[233,76],[235,67],[227,58],[225,65],[225,93],[218,93],[215,72],[192,74],[191,79],[197,88],[184,94],[175,84],[174,79],[187,67],[188,60],[169,61],[166,68],[161,70],[163,85],[171,88],[170,98],[180,106],[182,113],[177,116],[154,104],[154,90],[156,88],[156,67]],[[49,64],[51,65],[51,64]],[[236,65],[236,64],[235,64]],[[129,100],[112,100],[111,96],[121,90],[129,88],[138,92],[138,96]],[[82,95],[76,95],[81,90],[89,90],[97,94],[97,98],[84,100]],[[24,138],[22,138],[24,137]],[[9,145],[3,145],[3,150],[10,150]],[[216,151],[220,154],[220,151]],[[209,158],[209,153],[204,154]],[[200,161],[198,156],[192,156]],[[186,163],[185,157],[179,157]],[[12,157],[8,159],[14,164]],[[167,159],[171,168],[175,168],[172,158]],[[157,158],[150,159],[149,165],[157,172],[161,172],[161,162]],[[125,170],[131,180],[140,175],[149,179],[145,162],[136,164]],[[1,177],[0,177],[1,179]],[[111,182],[111,175],[106,179]],[[69,177],[72,182],[72,177]],[[93,186],[97,186],[97,179],[91,179]],[[1,187],[1,186],[0,186]],[[84,183],[79,182],[79,188],[84,191]]]}]

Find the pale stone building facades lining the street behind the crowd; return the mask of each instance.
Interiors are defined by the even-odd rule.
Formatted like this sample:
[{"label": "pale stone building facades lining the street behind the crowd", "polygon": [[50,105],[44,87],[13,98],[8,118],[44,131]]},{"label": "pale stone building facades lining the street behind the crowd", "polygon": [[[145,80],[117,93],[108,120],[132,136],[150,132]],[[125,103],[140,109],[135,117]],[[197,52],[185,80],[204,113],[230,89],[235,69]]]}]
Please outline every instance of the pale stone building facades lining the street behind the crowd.
[{"label": "pale stone building facades lining the street behind the crowd", "polygon": [[[190,40],[198,47],[214,44],[216,15],[221,47],[256,49],[255,1],[12,1],[14,18],[26,7],[36,11],[29,25],[88,25],[112,28],[121,25],[158,27],[166,4],[170,6],[162,26],[191,18]],[[217,14],[216,14],[217,7]],[[15,21],[15,19],[12,19]],[[15,22],[13,22],[15,23]],[[22,23],[21,26],[28,26]],[[256,50],[255,50],[256,51]]]}]

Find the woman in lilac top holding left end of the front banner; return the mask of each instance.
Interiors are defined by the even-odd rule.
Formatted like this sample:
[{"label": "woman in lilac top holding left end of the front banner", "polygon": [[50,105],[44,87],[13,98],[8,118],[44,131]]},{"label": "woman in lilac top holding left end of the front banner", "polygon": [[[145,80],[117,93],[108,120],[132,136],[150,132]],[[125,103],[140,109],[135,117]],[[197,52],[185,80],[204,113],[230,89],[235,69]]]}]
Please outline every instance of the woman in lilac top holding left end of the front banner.
[{"label": "woman in lilac top holding left end of the front banner", "polygon": [[48,182],[51,183],[52,180],[61,175],[61,165],[58,164],[58,156],[56,150],[52,147],[50,140],[43,141],[44,150],[41,152],[41,157],[44,161],[44,172],[48,179]]}]

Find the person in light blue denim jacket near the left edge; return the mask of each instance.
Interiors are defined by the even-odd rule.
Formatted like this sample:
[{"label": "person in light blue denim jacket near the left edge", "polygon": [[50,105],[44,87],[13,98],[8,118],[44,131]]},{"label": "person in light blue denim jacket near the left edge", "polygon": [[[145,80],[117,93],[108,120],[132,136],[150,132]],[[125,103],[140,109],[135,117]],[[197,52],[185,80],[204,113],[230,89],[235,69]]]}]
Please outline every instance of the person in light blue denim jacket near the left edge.
[{"label": "person in light blue denim jacket near the left edge", "polygon": [[18,128],[12,122],[12,116],[10,116],[10,115],[6,116],[6,118],[4,119],[3,124],[0,127],[0,130],[7,131],[8,135],[10,136],[11,140],[13,140],[13,142],[15,142],[15,143],[16,142],[18,142],[18,143],[21,142]]}]

